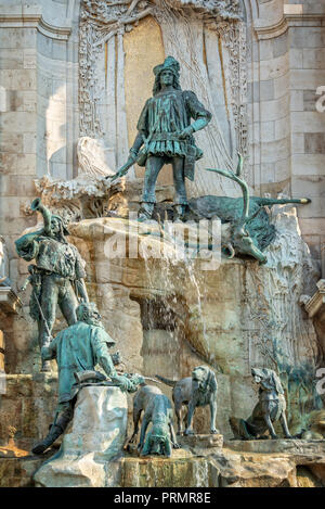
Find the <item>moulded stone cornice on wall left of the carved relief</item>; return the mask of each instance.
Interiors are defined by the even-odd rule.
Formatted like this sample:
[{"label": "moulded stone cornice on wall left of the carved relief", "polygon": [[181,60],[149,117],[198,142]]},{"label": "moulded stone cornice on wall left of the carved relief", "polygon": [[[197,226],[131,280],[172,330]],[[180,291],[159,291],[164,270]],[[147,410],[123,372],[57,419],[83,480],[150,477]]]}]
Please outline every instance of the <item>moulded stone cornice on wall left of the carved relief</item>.
[{"label": "moulded stone cornice on wall left of the carved relief", "polygon": [[52,39],[67,40],[72,26],[56,26],[48,23],[41,13],[0,14],[1,28],[37,28],[41,34]]}]

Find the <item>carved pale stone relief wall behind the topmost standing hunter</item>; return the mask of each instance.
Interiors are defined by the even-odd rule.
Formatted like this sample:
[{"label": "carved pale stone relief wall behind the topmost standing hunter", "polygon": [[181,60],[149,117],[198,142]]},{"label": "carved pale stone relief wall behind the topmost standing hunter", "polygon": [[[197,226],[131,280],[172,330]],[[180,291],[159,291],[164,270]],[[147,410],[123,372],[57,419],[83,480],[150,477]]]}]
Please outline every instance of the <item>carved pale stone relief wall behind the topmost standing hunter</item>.
[{"label": "carved pale stone relief wall behind the topmost standing hunter", "polygon": [[[247,148],[246,25],[240,20],[239,0],[82,0],[80,136],[104,139],[114,149],[113,169],[126,162],[123,35],[150,15],[160,26],[165,54],[181,64],[182,88],[194,90],[213,114],[209,128],[197,133],[205,152],[198,169],[232,168],[237,151],[245,155]],[[199,170],[196,175],[190,184],[192,195],[237,194],[235,186],[217,175],[207,177]],[[134,171],[129,176],[134,177]]]}]

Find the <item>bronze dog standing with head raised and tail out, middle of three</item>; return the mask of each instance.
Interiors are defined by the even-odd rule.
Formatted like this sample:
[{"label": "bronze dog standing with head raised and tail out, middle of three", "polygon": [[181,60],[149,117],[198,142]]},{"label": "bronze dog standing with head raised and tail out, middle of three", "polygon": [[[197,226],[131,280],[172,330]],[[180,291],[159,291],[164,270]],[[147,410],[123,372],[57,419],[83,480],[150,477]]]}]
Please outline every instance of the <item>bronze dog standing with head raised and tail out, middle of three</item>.
[{"label": "bronze dog standing with head raised and tail out, middle of three", "polygon": [[178,434],[182,433],[182,407],[188,405],[186,416],[185,435],[194,434],[192,429],[192,420],[196,407],[209,405],[210,407],[210,432],[218,433],[216,429],[217,416],[217,380],[216,374],[207,366],[198,366],[192,371],[192,377],[184,378],[180,381],[168,380],[156,374],[156,378],[173,387],[172,400],[174,411],[178,418]]}]

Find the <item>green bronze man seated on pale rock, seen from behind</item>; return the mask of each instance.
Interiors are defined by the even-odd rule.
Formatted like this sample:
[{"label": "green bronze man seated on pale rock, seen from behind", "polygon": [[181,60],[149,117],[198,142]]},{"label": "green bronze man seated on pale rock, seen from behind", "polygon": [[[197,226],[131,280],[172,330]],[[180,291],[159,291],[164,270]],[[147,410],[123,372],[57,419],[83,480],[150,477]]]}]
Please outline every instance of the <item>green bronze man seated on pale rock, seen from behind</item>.
[{"label": "green bronze man seated on pale rock, seen from behind", "polygon": [[[82,303],[77,309],[77,323],[58,332],[55,339],[41,349],[43,360],[56,358],[58,367],[58,405],[54,422],[48,435],[38,443],[32,453],[43,454],[64,433],[74,416],[80,373],[93,371],[100,365],[109,377],[110,384],[121,391],[134,392],[144,380],[140,376],[118,374],[108,347],[115,341],[101,323],[101,315],[94,303]],[[78,377],[76,377],[76,373]]]}]

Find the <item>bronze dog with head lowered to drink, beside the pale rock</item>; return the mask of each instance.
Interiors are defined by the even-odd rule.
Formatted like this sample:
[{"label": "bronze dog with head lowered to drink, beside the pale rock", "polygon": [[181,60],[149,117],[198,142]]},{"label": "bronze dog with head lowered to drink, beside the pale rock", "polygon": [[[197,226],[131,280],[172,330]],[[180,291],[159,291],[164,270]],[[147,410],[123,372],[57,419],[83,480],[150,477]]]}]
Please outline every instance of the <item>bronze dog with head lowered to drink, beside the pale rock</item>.
[{"label": "bronze dog with head lowered to drink, beside the pale rock", "polygon": [[[179,448],[172,423],[172,406],[168,397],[154,385],[142,386],[134,396],[134,431],[129,443],[133,443],[136,438],[139,420],[143,410],[144,415],[138,446],[141,456],[161,455],[170,457],[171,446],[174,449]],[[153,427],[146,435],[146,430],[151,422]]]}]

